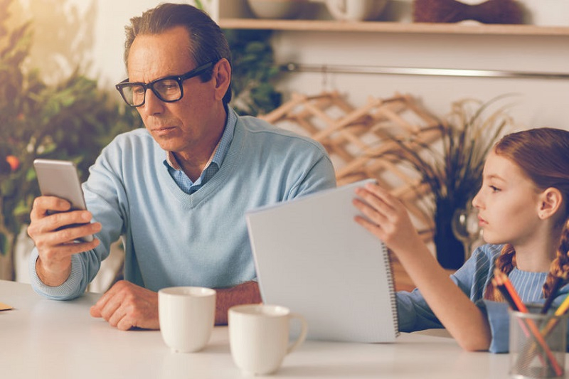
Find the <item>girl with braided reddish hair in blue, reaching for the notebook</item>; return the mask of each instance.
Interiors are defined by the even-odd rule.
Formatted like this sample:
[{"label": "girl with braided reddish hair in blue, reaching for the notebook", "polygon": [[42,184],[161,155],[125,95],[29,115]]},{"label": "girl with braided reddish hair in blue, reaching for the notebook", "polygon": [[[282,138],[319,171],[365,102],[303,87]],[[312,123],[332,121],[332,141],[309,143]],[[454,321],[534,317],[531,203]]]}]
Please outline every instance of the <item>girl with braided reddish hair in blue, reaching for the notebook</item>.
[{"label": "girl with braided reddish hair in blue, reaching for the notebook", "polygon": [[[450,277],[420,240],[397,198],[371,184],[353,201],[356,217],[397,255],[417,285],[398,292],[400,331],[445,327],[468,351],[508,351],[509,314],[491,284],[507,274],[524,303],[543,302],[569,270],[569,132],[541,128],[509,134],[486,157],[479,211],[486,245]],[[565,286],[554,304],[569,291]]]}]

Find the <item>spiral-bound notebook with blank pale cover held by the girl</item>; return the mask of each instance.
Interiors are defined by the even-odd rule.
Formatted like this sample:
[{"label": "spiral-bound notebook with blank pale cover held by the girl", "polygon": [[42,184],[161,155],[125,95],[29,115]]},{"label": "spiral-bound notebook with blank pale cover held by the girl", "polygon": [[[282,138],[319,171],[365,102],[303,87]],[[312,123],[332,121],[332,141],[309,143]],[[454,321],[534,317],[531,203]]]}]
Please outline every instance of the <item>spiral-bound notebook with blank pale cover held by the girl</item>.
[{"label": "spiral-bound notebook with blank pale cover held by the girl", "polygon": [[354,189],[367,181],[245,215],[263,302],[302,314],[307,338],[376,343],[398,336],[388,250],[353,220]]}]

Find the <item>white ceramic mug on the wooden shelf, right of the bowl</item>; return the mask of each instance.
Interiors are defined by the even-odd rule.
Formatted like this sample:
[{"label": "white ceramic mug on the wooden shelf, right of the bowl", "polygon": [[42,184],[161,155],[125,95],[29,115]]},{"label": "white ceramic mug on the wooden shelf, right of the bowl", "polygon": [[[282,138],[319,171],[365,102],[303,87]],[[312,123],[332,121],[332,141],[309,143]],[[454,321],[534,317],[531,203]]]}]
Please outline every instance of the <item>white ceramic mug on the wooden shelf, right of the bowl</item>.
[{"label": "white ceramic mug on the wooden shelf, right of the bowl", "polygon": [[341,21],[365,21],[377,18],[386,0],[326,0],[330,14]]}]

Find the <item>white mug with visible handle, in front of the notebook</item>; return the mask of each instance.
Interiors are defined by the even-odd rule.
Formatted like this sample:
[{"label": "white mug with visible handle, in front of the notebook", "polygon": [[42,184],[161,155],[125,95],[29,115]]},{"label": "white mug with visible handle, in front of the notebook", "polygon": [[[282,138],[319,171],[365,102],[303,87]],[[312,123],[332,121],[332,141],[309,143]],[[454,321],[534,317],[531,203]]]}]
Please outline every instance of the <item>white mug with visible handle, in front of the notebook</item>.
[{"label": "white mug with visible handle, in front of the notebook", "polygon": [[[289,343],[289,324],[300,321],[297,340]],[[229,345],[233,362],[244,375],[274,373],[282,359],[307,336],[307,321],[285,306],[246,304],[229,309]]]}]

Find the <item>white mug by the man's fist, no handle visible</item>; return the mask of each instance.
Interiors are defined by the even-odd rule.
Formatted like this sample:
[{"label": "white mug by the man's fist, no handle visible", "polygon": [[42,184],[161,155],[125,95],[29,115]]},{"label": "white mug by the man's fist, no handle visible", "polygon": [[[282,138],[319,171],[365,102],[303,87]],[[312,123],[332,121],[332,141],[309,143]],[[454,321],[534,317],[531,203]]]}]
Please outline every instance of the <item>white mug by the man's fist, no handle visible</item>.
[{"label": "white mug by the man's fist, no handle visible", "polygon": [[216,291],[204,287],[160,289],[158,317],[164,343],[172,351],[200,351],[208,343],[216,321]]}]

